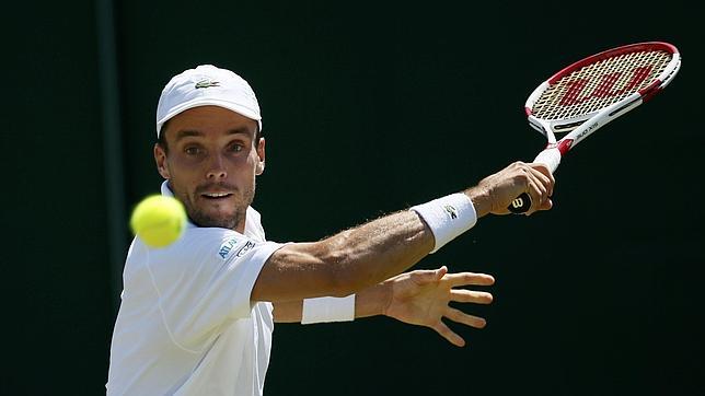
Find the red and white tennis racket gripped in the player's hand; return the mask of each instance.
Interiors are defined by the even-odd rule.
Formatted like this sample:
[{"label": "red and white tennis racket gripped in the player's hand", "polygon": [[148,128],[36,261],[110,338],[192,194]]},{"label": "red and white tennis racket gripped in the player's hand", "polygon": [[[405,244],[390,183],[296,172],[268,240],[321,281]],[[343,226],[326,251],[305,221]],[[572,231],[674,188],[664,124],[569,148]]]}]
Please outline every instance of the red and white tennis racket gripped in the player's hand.
[{"label": "red and white tennis racket gripped in the player's hand", "polygon": [[[548,145],[534,162],[555,172],[560,159],[611,120],[650,100],[681,67],[678,49],[650,42],[609,49],[579,60],[539,85],[524,106],[529,125]],[[556,141],[556,135],[567,133]],[[507,209],[523,213],[531,197],[523,193]]]}]

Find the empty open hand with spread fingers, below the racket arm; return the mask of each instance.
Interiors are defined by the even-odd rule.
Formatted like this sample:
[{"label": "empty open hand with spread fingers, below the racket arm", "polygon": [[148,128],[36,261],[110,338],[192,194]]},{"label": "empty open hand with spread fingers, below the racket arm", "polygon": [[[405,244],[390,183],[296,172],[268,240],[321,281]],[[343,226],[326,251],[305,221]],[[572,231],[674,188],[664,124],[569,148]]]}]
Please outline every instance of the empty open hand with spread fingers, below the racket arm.
[{"label": "empty open hand with spread fingers, below the racket arm", "polygon": [[441,318],[446,317],[467,326],[483,328],[486,321],[451,307],[451,301],[489,304],[490,293],[466,289],[464,286],[489,286],[495,279],[485,273],[448,273],[446,266],[436,270],[416,270],[388,279],[392,296],[384,310],[386,316],[412,325],[430,327],[454,346],[463,347],[465,340],[451,330]]}]

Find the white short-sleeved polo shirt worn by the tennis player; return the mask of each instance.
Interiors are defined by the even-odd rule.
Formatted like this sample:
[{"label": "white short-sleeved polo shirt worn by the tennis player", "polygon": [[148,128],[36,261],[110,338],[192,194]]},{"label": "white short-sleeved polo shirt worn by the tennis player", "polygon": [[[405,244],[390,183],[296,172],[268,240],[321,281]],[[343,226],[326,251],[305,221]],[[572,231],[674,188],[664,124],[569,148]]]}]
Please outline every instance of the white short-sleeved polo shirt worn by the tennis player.
[{"label": "white short-sleeved polo shirt worn by the tennis player", "polygon": [[[171,195],[166,185],[162,194]],[[188,224],[160,249],[135,238],[111,346],[108,395],[262,395],[270,303],[251,304],[259,270],[280,244],[265,242],[247,208],[245,235]]]}]

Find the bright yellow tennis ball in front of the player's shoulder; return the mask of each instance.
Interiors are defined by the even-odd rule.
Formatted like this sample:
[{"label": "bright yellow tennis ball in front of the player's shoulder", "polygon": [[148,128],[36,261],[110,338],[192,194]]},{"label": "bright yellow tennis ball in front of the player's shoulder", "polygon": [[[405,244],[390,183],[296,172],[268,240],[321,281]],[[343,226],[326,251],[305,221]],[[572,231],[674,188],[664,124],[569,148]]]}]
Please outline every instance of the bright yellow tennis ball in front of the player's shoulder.
[{"label": "bright yellow tennis ball in front of the player's shoulder", "polygon": [[151,247],[176,242],[186,229],[186,211],[175,198],[154,195],[135,207],[130,218],[132,232]]}]

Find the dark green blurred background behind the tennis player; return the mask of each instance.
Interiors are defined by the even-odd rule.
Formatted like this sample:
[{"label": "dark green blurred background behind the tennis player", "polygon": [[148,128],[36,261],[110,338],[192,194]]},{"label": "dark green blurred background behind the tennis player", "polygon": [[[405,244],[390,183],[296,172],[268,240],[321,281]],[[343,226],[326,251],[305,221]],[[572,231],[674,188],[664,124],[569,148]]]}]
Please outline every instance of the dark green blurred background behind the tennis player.
[{"label": "dark green blurred background behind the tennis player", "polygon": [[686,2],[13,3],[0,132],[4,395],[104,393],[127,217],[159,190],[154,110],[186,68],[254,86],[274,241],[459,190],[543,138],[527,95],[613,46],[667,40],[680,75],[585,141],[555,209],[485,218],[418,268],[492,273],[459,349],[384,317],[279,325],[268,395],[705,394],[703,28]]}]

